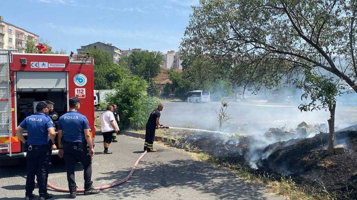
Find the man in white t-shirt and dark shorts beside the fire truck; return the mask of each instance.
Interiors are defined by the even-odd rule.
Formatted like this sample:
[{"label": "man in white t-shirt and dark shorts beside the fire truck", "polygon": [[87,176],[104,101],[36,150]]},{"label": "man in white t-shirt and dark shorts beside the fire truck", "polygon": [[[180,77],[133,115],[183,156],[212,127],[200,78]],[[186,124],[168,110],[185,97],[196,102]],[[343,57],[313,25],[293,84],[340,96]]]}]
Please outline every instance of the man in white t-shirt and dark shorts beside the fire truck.
[{"label": "man in white t-shirt and dark shorts beside the fire truck", "polygon": [[113,133],[119,131],[118,125],[115,122],[115,117],[113,114],[113,106],[108,105],[107,111],[102,114],[101,121],[101,131],[103,134],[103,144],[104,144],[104,154],[112,154],[113,152],[108,151],[109,145],[111,143]]}]

